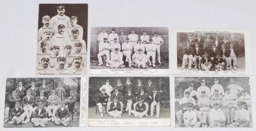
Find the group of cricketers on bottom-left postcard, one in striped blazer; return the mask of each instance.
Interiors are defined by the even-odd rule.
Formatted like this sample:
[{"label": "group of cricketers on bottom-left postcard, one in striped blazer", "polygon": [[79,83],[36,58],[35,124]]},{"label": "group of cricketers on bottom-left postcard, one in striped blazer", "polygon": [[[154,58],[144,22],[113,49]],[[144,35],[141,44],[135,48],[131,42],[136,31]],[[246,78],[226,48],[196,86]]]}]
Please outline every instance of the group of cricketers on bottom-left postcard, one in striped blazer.
[{"label": "group of cricketers on bottom-left postcard, one in striped blazer", "polygon": [[42,80],[39,88],[31,82],[31,88],[26,90],[23,82],[8,96],[8,105],[5,108],[4,122],[27,124],[30,121],[34,127],[46,127],[49,121],[56,125],[68,126],[70,121],[70,108],[76,102],[74,91],[65,99],[66,90],[62,82],[58,82],[55,90],[50,90],[46,80]]}]

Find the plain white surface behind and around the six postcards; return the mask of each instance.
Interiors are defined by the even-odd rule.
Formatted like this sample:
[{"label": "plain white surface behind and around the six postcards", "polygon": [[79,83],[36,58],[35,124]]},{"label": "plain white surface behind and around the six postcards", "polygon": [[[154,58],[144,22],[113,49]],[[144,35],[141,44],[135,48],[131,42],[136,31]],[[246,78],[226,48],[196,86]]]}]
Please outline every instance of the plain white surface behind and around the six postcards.
[{"label": "plain white surface behind and around the six postcards", "polygon": [[[8,77],[40,77],[35,75],[39,3],[88,3],[90,27],[169,27],[202,29],[249,29],[252,55],[256,38],[255,1],[2,1],[0,4],[0,130],[216,130],[217,128],[177,127],[65,127],[65,128],[3,128],[5,83]],[[169,32],[169,34],[172,32]],[[169,37],[170,38],[170,37]],[[169,40],[171,41],[171,40]],[[169,46],[170,47],[170,46]],[[90,49],[90,48],[88,48]],[[170,53],[169,53],[170,54]],[[89,60],[89,56],[88,56]],[[256,61],[253,60],[253,65]],[[88,64],[89,65],[89,64]],[[89,69],[89,68],[88,68]],[[253,70],[255,74],[255,70]],[[153,75],[152,75],[153,76]],[[169,75],[171,76],[171,75]],[[54,77],[54,76],[48,76]],[[61,76],[67,77],[67,76]],[[89,77],[82,76],[82,77]],[[251,77],[251,94],[256,90]],[[170,84],[172,85],[172,84]],[[170,91],[173,91],[170,89]],[[171,93],[173,94],[173,93]],[[170,98],[173,98],[171,96]],[[251,95],[256,111],[256,96]],[[171,113],[172,114],[172,113]],[[221,130],[255,130],[253,128],[221,128]],[[172,116],[173,118],[173,116]],[[173,125],[172,125],[173,126]],[[220,128],[218,128],[220,130]]]}]

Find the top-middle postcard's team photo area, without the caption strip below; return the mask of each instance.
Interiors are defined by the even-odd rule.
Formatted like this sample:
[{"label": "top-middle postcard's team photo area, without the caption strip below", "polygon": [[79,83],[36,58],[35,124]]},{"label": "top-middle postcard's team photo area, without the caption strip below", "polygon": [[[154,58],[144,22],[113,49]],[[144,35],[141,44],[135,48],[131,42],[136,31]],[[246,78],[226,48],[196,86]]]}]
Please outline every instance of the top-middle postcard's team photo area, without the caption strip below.
[{"label": "top-middle postcard's team photo area, without the caption strip below", "polygon": [[91,28],[90,69],[168,69],[167,27]]}]

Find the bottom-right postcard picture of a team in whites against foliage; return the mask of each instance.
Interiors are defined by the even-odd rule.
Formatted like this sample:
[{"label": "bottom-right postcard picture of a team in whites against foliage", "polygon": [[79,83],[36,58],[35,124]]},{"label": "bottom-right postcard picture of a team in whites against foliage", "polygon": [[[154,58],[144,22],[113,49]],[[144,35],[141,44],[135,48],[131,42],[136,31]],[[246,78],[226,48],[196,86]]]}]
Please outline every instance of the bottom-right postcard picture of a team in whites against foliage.
[{"label": "bottom-right postcard picture of a team in whites against foliage", "polygon": [[176,127],[252,127],[249,77],[175,77]]}]

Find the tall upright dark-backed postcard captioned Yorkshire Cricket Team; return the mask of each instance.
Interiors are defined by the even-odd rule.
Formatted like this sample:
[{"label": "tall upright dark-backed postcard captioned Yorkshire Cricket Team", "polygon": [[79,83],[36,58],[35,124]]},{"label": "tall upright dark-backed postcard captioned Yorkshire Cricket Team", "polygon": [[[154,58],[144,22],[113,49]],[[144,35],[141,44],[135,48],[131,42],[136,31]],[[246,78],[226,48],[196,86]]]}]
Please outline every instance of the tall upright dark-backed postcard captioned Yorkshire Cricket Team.
[{"label": "tall upright dark-backed postcard captioned Yorkshire Cricket Team", "polygon": [[39,4],[36,75],[85,75],[88,4]]}]

